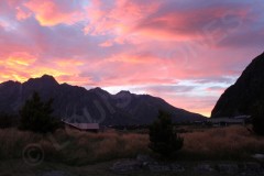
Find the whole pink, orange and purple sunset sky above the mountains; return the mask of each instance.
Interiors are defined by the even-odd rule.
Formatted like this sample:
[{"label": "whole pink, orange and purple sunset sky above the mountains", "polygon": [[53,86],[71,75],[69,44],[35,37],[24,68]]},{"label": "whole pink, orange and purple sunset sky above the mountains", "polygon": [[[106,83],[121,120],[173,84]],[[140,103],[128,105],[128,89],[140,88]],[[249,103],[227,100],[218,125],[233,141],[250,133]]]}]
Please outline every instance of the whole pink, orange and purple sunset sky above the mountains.
[{"label": "whole pink, orange and purple sunset sky above the mountains", "polygon": [[263,53],[263,0],[1,0],[0,81],[44,74],[210,116]]}]

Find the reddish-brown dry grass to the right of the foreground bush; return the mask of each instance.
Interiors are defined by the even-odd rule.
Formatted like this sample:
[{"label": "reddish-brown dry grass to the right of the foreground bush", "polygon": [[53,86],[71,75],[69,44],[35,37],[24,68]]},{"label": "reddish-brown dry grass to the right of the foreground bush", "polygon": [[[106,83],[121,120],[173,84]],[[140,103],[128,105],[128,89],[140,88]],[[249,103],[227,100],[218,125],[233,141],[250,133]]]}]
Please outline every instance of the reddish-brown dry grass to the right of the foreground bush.
[{"label": "reddish-brown dry grass to the right of the foreground bush", "polygon": [[245,127],[229,127],[185,133],[182,153],[198,158],[243,158],[264,152],[264,138],[251,133]]}]

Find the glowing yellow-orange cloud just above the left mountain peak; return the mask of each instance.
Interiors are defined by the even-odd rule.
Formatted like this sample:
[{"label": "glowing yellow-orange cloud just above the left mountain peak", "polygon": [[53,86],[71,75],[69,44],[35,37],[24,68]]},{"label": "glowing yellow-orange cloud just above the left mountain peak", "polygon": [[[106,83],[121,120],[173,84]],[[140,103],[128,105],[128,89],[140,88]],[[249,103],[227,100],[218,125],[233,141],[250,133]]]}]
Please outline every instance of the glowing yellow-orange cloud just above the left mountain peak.
[{"label": "glowing yellow-orange cloud just above the left mountain peak", "polygon": [[76,59],[57,59],[46,63],[29,53],[14,52],[0,57],[0,81],[18,80],[23,82],[31,77],[35,78],[47,74],[53,75],[58,81],[65,80],[62,78],[67,76],[72,79],[72,81],[67,81],[69,84],[86,85],[88,79],[78,76],[80,70],[77,67],[82,64]]}]

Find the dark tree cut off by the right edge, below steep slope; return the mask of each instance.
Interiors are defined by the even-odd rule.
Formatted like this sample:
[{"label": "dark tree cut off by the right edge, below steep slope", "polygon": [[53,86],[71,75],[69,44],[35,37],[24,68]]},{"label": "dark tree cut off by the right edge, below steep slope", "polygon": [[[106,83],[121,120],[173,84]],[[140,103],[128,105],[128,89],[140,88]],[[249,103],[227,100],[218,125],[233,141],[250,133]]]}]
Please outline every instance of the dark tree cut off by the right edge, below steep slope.
[{"label": "dark tree cut off by the right edge, below steep slope", "polygon": [[254,106],[252,125],[256,134],[264,135],[264,101],[260,101]]}]

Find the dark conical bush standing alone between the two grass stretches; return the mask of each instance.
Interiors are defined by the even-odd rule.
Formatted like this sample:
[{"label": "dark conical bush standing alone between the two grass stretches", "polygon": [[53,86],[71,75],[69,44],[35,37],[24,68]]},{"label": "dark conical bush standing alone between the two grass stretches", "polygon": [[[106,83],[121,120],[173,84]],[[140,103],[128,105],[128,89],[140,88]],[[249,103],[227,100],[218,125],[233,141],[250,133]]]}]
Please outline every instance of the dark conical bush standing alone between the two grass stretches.
[{"label": "dark conical bush standing alone between the two grass stretches", "polygon": [[184,139],[174,131],[170,116],[160,111],[158,119],[150,127],[148,147],[163,155],[169,156],[183,147]]}]

